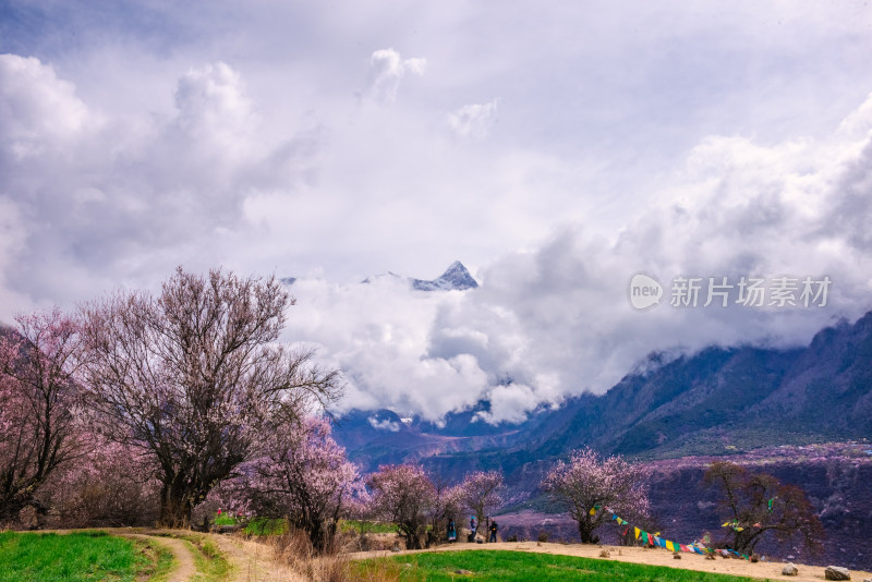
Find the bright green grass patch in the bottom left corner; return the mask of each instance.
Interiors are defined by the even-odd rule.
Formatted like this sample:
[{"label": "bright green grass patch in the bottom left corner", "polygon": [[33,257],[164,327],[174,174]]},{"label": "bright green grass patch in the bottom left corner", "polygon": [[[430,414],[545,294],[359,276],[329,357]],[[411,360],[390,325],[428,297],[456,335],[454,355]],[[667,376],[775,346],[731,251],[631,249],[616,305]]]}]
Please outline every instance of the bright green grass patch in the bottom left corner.
[{"label": "bright green grass patch in the bottom left corner", "polygon": [[131,581],[161,577],[172,556],[105,532],[0,533],[0,582]]}]

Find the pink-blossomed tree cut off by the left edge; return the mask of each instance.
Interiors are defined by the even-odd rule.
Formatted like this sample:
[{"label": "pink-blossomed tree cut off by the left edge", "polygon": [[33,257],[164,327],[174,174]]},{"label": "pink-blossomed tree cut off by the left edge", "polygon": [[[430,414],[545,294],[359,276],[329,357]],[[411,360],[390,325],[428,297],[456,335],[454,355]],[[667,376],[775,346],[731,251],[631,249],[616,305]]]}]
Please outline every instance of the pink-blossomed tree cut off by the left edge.
[{"label": "pink-blossomed tree cut off by the left edge", "polygon": [[55,308],[16,317],[19,331],[0,337],[0,523],[33,507],[58,468],[81,454],[75,319]]}]

